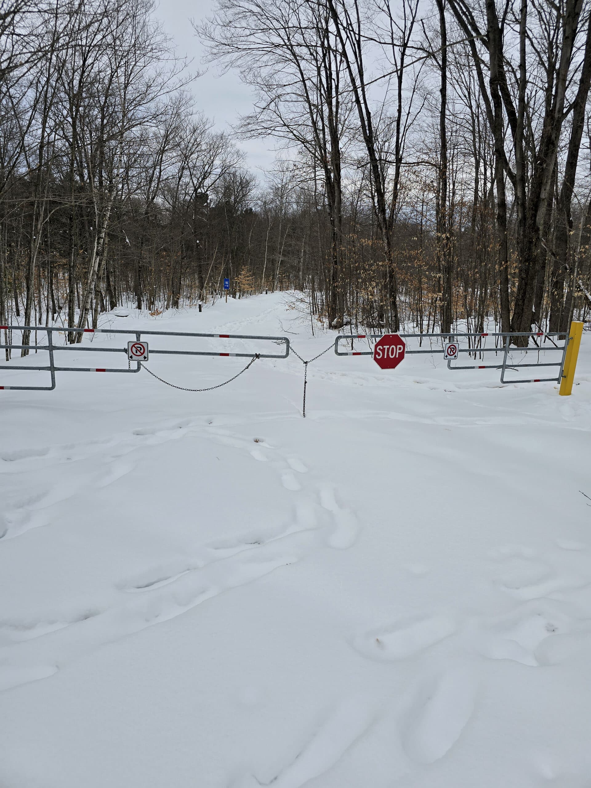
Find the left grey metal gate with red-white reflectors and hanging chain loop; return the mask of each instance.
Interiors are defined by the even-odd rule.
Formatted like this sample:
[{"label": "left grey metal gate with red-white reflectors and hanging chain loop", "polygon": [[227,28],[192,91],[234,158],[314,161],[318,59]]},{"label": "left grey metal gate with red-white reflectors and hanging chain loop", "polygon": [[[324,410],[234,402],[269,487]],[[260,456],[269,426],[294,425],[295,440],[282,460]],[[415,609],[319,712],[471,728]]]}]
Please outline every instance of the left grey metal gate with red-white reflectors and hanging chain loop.
[{"label": "left grey metal gate with red-white reflectors and hanging chain loop", "polygon": [[[135,337],[139,342],[142,336],[188,336],[200,337],[202,339],[220,339],[220,340],[260,340],[273,342],[274,344],[284,343],[283,353],[258,353],[253,351],[251,353],[226,353],[219,351],[199,351],[199,350],[166,350],[163,348],[150,348],[150,353],[154,355],[208,355],[208,356],[228,356],[243,359],[251,359],[253,356],[258,355],[260,359],[287,359],[289,355],[289,340],[287,336],[255,336],[250,334],[202,334],[202,333],[188,333],[184,331],[143,331],[138,329],[70,329],[68,327],[60,328],[56,326],[45,325],[0,325],[0,330],[13,330],[13,331],[35,331],[45,332],[47,336],[46,345],[23,345],[23,344],[0,344],[0,350],[23,350],[28,351],[46,351],[49,355],[49,364],[43,366],[33,365],[14,365],[14,364],[0,364],[0,370],[41,370],[49,372],[50,386],[2,386],[0,388],[12,389],[17,391],[52,391],[55,388],[55,373],[56,372],[116,372],[122,374],[135,374],[141,370],[141,362],[130,362],[128,368],[125,367],[95,367],[95,366],[56,366],[54,361],[54,354],[59,352],[85,352],[85,353],[125,353],[127,355],[127,348],[105,348],[102,345],[95,348],[91,344],[56,344],[54,342],[54,334],[56,333],[84,333],[84,334],[121,334]],[[136,366],[132,366],[132,363]]]}]

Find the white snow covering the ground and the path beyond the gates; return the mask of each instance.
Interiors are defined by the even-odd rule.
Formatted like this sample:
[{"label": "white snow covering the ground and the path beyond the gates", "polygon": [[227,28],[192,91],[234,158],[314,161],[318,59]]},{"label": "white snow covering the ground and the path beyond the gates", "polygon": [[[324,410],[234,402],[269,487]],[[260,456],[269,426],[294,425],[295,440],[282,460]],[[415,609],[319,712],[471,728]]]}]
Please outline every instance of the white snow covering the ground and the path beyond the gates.
[{"label": "white snow covering the ground and the path beyond the gates", "polygon": [[[110,321],[334,338],[281,294]],[[498,375],[329,351],[306,419],[294,355],[0,392],[2,788],[588,788],[591,343],[571,397]]]}]

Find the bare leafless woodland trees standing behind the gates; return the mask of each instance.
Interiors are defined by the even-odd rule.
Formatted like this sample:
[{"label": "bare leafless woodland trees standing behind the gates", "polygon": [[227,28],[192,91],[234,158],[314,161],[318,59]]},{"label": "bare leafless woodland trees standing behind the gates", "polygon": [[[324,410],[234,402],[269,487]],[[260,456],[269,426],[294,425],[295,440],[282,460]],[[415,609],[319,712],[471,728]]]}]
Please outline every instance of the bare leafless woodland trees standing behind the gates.
[{"label": "bare leafless woodland trees standing behind the gates", "polygon": [[587,318],[589,0],[218,0],[196,33],[255,90],[236,133],[284,147],[262,184],[151,2],[0,7],[0,325],[223,277],[335,328]]}]

